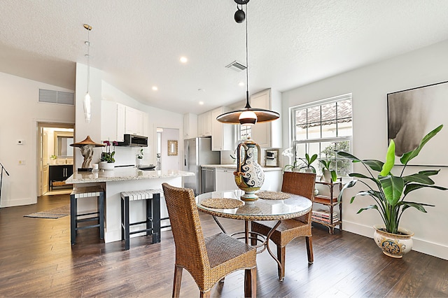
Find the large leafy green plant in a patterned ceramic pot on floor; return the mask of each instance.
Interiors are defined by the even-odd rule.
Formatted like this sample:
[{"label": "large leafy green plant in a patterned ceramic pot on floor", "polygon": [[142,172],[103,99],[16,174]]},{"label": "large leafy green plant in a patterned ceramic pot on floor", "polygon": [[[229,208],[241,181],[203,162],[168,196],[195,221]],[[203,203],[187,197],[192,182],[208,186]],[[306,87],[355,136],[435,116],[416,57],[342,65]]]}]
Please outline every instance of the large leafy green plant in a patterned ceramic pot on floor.
[{"label": "large leafy green plant in a patterned ceramic pot on floor", "polygon": [[[377,243],[377,246],[383,250],[385,255],[402,257],[402,255],[412,249],[411,236],[413,236],[414,233],[399,227],[402,213],[408,208],[416,208],[418,211],[426,213],[425,206],[434,206],[430,204],[416,203],[414,201],[405,201],[407,194],[423,187],[447,190],[445,187],[434,185],[434,181],[430,178],[430,176],[437,175],[440,169],[419,171],[418,173],[404,176],[409,161],[419,155],[421,148],[423,148],[423,146],[432,139],[437,132],[440,132],[442,127],[443,125],[440,125],[433,129],[433,131],[429,132],[423,139],[421,139],[417,148],[402,155],[400,158],[400,163],[402,164],[400,176],[395,176],[392,173],[395,164],[395,143],[393,140],[391,140],[388,146],[386,162],[381,162],[375,159],[359,159],[347,152],[337,152],[338,155],[351,159],[352,162],[362,163],[365,166],[365,169],[369,172],[369,176],[365,176],[362,173],[350,173],[350,177],[370,180],[376,186],[376,189],[374,189],[363,180],[351,180],[342,188],[338,200],[340,201],[342,198],[344,190],[353,187],[358,181],[367,187],[367,190],[362,190],[351,197],[350,203],[352,203],[358,196],[370,196],[374,199],[376,204],[360,208],[358,213],[368,209],[374,209],[381,215],[384,225],[374,225],[374,240]],[[377,171],[379,174],[374,175],[372,171]]]}]

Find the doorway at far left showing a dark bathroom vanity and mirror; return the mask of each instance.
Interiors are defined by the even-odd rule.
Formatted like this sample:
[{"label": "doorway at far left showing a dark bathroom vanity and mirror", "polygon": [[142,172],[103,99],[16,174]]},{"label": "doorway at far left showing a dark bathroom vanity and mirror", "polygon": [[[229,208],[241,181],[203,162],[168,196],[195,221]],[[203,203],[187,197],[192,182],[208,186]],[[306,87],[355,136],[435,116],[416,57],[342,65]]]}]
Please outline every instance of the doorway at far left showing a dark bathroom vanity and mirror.
[{"label": "doorway at far left showing a dark bathroom vanity and mirror", "polygon": [[74,125],[38,122],[38,196],[67,194],[64,180],[73,173]]}]

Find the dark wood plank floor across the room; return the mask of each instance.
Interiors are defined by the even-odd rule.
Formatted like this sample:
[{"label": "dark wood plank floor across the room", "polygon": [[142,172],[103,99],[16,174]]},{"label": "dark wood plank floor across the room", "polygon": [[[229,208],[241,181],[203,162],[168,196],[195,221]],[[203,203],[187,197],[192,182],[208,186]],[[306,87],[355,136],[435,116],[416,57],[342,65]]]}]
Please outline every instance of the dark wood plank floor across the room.
[{"label": "dark wood plank floor across the room", "polygon": [[[70,245],[69,216],[57,220],[23,215],[69,204],[68,195],[41,197],[38,204],[0,209],[0,296],[2,297],[170,297],[174,273],[171,232],[151,245],[148,237],[104,244],[97,229],[78,233]],[[219,232],[201,215],[204,234]],[[223,220],[228,232],[243,228]],[[287,247],[286,278],[277,280],[276,263],[258,255],[258,297],[448,297],[448,261],[412,251],[402,260],[383,255],[372,239],[349,232],[328,234],[314,227],[314,264],[308,265],[304,239]],[[244,273],[218,284],[212,297],[241,297]],[[181,297],[198,297],[184,271]]]}]

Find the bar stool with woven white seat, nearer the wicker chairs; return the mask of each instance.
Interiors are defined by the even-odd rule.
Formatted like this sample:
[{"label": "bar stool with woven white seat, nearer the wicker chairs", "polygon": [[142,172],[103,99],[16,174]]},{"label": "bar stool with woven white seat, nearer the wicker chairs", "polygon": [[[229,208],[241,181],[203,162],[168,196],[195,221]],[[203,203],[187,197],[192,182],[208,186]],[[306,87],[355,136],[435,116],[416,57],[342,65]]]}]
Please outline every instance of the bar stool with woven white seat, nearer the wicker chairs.
[{"label": "bar stool with woven white seat, nearer the wicker chairs", "polygon": [[[137,190],[121,192],[121,240],[125,241],[125,250],[130,247],[130,235],[146,232],[146,236],[153,236],[153,244],[160,242],[160,192],[162,190]],[[145,200],[146,220],[132,222],[129,220],[130,201]],[[130,226],[146,223],[146,229],[130,232]]]}]

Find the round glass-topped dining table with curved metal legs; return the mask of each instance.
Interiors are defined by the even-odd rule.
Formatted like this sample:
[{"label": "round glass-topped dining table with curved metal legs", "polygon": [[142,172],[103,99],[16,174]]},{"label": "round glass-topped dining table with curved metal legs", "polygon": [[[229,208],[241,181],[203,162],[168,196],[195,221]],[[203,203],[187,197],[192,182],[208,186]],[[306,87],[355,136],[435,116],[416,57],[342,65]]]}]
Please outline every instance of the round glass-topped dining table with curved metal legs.
[{"label": "round glass-topped dining table with curved metal legs", "polygon": [[[213,215],[214,220],[224,233],[226,233],[225,229],[216,217],[244,220],[244,239],[246,244],[251,244],[249,243],[249,239],[257,239],[256,241],[260,241],[258,236],[261,235],[252,235],[253,232],[250,230],[251,221],[277,220],[276,225],[272,227],[265,239],[257,247],[264,246],[267,248],[269,254],[276,260],[277,264],[281,266],[279,260],[269,248],[269,237],[275,229],[279,227],[281,220],[298,218],[309,213],[312,208],[312,202],[306,197],[298,196],[296,194],[286,194],[284,192],[272,193],[279,194],[279,197],[285,197],[285,199],[258,199],[247,203],[241,201],[241,195],[243,194],[242,190],[228,190],[199,194],[196,197],[196,205],[198,210]],[[210,204],[210,202],[213,204]],[[213,206],[214,204],[215,206]],[[228,204],[228,206],[225,206],[225,204]],[[242,233],[243,232],[238,232],[232,234],[232,236]],[[259,253],[265,250],[265,248],[260,250]]]}]

